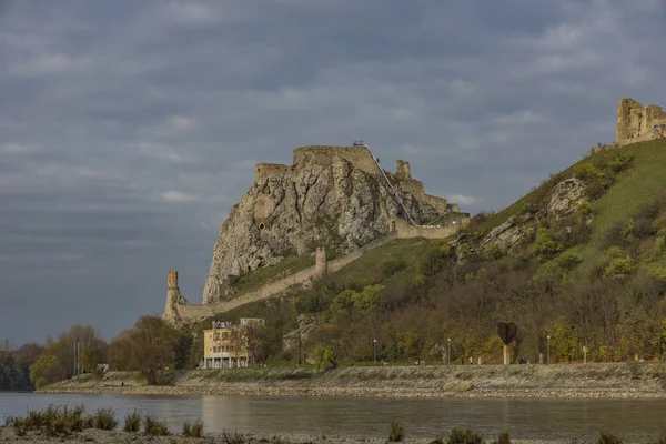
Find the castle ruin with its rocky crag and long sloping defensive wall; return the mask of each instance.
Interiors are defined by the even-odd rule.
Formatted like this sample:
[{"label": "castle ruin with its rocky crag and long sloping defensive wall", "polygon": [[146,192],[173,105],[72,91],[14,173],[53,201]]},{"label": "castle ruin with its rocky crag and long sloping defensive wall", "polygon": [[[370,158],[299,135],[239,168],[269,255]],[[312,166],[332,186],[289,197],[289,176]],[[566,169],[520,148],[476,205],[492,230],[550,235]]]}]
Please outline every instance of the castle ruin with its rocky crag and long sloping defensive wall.
[{"label": "castle ruin with its rocky crag and long sloping defensive wall", "polygon": [[[398,160],[391,173],[366,145],[302,147],[292,165],[260,163],[254,172],[220,228],[202,304],[190,304],[170,281],[164,317],[172,323],[271,297],[393,239],[447,238],[470,219],[457,204],[427,194],[408,162]],[[326,252],[335,259],[327,261]],[[302,255],[315,255],[315,264],[236,296],[240,276]]]}]

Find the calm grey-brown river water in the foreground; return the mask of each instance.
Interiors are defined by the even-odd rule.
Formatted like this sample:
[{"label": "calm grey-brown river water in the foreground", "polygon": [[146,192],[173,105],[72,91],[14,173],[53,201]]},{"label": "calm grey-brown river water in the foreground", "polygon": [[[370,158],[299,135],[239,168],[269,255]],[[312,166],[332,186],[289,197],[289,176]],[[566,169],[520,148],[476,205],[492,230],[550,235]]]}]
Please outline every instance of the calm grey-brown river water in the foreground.
[{"label": "calm grey-brown river water in the foreground", "polygon": [[609,431],[629,441],[666,435],[666,401],[447,400],[306,396],[44,395],[0,392],[0,420],[24,416],[49,404],[83,404],[87,412],[111,407],[121,425],[137,410],[167,420],[173,431],[201,417],[205,431],[305,433],[384,437],[392,421],[407,436],[436,437],[471,427],[486,438],[501,431],[514,438],[593,438]]}]

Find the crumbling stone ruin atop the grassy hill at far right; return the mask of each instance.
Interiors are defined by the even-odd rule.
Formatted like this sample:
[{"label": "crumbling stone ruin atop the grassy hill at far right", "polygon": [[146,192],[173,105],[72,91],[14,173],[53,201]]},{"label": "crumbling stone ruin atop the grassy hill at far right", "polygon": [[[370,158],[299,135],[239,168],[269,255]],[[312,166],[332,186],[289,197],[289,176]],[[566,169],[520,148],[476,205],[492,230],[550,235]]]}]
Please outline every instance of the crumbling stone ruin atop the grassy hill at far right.
[{"label": "crumbling stone ruin atop the grassy hill at far right", "polygon": [[615,143],[626,145],[663,138],[666,129],[662,125],[666,125],[666,112],[662,107],[643,107],[634,99],[622,99],[617,105]]}]

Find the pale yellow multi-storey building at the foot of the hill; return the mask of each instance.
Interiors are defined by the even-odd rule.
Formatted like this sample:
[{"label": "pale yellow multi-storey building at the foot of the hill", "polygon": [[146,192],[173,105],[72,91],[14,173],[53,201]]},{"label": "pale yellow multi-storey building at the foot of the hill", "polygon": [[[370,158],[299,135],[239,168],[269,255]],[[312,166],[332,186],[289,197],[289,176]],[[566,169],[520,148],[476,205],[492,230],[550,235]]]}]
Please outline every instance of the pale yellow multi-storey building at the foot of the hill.
[{"label": "pale yellow multi-storey building at the foot of the hill", "polygon": [[264,320],[242,317],[238,324],[213,321],[211,330],[203,331],[203,369],[246,367],[251,359],[251,327],[263,325]]}]

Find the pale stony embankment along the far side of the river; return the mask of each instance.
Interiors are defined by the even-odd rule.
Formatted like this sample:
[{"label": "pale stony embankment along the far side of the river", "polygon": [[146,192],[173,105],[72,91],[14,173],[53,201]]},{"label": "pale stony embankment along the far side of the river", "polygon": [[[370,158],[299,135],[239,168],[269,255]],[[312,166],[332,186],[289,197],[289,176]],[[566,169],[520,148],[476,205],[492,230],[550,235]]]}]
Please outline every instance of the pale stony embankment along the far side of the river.
[{"label": "pale stony embankment along the far side of the river", "polygon": [[383,397],[666,398],[666,365],[432,365],[192,370],[148,385],[137,372],[81,375],[38,393]]}]

